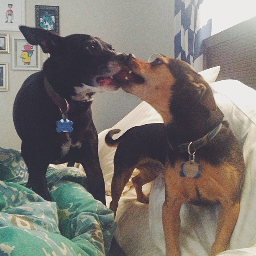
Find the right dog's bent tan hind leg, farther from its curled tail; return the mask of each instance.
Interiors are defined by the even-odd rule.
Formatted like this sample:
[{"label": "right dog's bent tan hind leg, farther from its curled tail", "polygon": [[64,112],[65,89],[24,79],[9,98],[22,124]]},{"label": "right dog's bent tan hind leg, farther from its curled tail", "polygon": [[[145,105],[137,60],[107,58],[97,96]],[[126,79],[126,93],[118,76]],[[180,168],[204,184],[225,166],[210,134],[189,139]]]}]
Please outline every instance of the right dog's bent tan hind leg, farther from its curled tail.
[{"label": "right dog's bent tan hind leg, farther from its curled tail", "polygon": [[136,166],[140,173],[132,178],[139,202],[148,204],[149,197],[142,192],[142,186],[154,180],[158,175],[164,175],[164,166],[155,159],[142,159]]}]

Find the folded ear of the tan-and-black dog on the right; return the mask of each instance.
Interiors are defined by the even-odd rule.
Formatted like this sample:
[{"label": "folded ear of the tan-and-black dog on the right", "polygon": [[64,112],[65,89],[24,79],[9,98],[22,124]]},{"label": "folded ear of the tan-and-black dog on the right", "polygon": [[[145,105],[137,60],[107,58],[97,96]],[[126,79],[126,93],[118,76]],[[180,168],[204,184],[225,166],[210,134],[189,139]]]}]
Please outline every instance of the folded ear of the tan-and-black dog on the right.
[{"label": "folded ear of the tan-and-black dog on the right", "polygon": [[191,84],[200,91],[200,103],[208,110],[215,111],[217,106],[210,85],[207,82],[192,82]]}]

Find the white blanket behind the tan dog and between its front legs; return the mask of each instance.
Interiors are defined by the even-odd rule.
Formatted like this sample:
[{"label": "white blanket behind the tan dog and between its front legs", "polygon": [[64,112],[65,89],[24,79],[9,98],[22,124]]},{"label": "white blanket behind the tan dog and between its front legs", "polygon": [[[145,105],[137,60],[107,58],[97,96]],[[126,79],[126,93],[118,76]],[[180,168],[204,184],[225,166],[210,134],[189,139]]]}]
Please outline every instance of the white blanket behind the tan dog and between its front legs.
[{"label": "white blanket behind the tan dog and between its front legs", "polygon": [[[230,128],[243,145],[246,177],[241,197],[241,210],[230,239],[230,249],[221,255],[256,255],[256,91],[244,84],[225,80],[211,84],[216,103],[223,111]],[[165,252],[161,206],[164,183],[157,178],[151,189],[149,222],[154,243]],[[184,204],[180,213],[182,255],[209,255],[215,240],[218,206],[198,207]],[[246,248],[241,250],[241,248]],[[239,249],[235,250],[234,249]]]}]

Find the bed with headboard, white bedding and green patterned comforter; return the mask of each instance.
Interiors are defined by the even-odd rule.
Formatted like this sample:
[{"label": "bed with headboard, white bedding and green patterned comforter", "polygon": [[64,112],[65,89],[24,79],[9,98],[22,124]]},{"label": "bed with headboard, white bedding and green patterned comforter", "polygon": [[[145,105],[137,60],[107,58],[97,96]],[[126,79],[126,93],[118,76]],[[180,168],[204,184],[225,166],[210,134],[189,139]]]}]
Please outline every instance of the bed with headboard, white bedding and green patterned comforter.
[{"label": "bed with headboard, white bedding and green patterned comforter", "polygon": [[[249,39],[245,31],[252,34]],[[256,255],[255,39],[256,18],[252,18],[203,42],[205,70],[200,73],[212,87],[217,105],[241,143],[246,163],[241,211],[228,251],[220,254],[225,256]],[[141,102],[112,128],[121,129],[122,134],[136,125],[162,122],[154,108]],[[110,129],[99,134],[107,205],[111,201],[115,154],[115,148],[105,144]],[[105,255],[113,235],[127,256],[164,255],[164,184],[160,178],[143,186],[145,193],[150,192],[149,204],[136,200],[130,180],[115,220],[113,212],[87,192],[86,177],[79,164],[49,166],[47,180],[53,202],[26,189],[27,178],[20,151],[0,148],[0,255]],[[218,212],[218,206],[182,205],[182,256],[209,255]]]}]

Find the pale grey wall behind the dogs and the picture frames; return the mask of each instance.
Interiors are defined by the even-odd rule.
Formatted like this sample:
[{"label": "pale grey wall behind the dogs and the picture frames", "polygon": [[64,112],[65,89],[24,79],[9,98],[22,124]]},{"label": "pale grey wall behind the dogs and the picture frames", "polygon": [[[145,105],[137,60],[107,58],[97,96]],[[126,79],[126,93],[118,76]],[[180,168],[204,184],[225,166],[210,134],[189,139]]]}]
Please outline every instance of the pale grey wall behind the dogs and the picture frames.
[{"label": "pale grey wall behind the dogs and the picture frames", "polygon": [[[25,3],[27,26],[35,26],[35,5],[58,5],[61,36],[72,33],[98,36],[111,43],[116,51],[133,53],[143,60],[156,52],[174,56],[174,0],[25,0]],[[22,36],[19,31],[0,33],[9,33],[10,39]],[[20,149],[12,119],[13,102],[23,81],[35,71],[13,70],[11,56],[11,47],[10,54],[0,54],[0,61],[9,63],[9,91],[0,92],[0,147]],[[41,53],[42,62],[45,59],[46,55]],[[110,128],[139,102],[121,90],[95,95],[92,114],[97,131]]]}]

